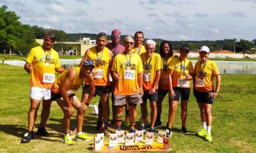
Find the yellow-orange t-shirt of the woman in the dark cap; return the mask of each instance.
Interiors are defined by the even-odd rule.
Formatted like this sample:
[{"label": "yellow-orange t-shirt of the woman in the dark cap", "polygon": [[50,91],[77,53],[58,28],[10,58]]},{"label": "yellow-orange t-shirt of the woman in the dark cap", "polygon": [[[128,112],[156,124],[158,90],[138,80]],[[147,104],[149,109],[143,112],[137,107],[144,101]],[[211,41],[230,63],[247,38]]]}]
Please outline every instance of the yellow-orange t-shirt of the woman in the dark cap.
[{"label": "yellow-orange t-shirt of the woman in the dark cap", "polygon": [[[184,71],[183,71],[184,67]],[[173,70],[172,74],[172,88],[190,88],[190,81],[185,81],[186,77],[183,74],[193,73],[193,64],[189,59],[184,59],[180,61],[179,57],[174,57],[170,61],[169,68]]]}]

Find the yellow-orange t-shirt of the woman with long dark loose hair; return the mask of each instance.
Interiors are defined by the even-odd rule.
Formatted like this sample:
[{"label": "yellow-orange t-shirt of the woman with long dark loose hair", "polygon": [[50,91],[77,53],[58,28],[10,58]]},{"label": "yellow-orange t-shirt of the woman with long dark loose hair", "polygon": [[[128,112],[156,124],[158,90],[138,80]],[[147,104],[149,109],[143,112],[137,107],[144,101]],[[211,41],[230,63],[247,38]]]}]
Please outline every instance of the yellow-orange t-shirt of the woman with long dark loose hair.
[{"label": "yellow-orange t-shirt of the woman with long dark loose hair", "polygon": [[170,61],[172,60],[172,58],[174,56],[175,56],[175,54],[173,54],[172,57],[169,57],[169,59],[167,61],[165,61],[163,57],[161,58],[163,69],[161,70],[160,85],[161,85],[162,90],[169,90],[170,89],[169,78],[168,78],[168,67],[170,65]]}]

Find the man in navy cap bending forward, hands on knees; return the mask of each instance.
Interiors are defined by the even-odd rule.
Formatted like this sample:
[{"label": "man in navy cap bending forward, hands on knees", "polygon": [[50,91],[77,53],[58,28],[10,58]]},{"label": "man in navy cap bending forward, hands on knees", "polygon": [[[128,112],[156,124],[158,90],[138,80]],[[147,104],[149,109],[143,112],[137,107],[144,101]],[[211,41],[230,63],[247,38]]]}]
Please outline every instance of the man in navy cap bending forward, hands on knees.
[{"label": "man in navy cap bending forward, hands on knees", "polygon": [[[93,99],[95,92],[93,71],[94,63],[91,60],[85,60],[83,67],[72,67],[68,70],[62,72],[58,78],[55,79],[54,84],[51,88],[51,100],[56,100],[59,107],[61,107],[64,117],[63,117],[63,126],[65,137],[62,140],[62,143],[67,145],[72,145],[73,141],[69,135],[69,125],[70,118],[73,116],[74,108],[77,110],[77,134],[76,140],[91,140],[93,137],[86,136],[82,132],[82,126],[84,121],[84,114]],[[83,82],[88,79],[91,92],[87,101],[80,101],[77,96],[74,94]],[[84,94],[84,93],[83,93]]]}]

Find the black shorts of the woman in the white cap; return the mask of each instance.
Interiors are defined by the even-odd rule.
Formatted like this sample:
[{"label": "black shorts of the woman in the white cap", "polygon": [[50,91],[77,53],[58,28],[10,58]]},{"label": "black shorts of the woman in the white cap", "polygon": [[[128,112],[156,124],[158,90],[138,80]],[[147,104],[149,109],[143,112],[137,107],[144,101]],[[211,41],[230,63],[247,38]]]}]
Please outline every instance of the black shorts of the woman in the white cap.
[{"label": "black shorts of the woman in the white cap", "polygon": [[204,103],[204,104],[212,104],[214,103],[214,98],[209,97],[208,93],[213,93],[214,90],[210,92],[199,92],[194,89],[194,96],[197,99],[197,103]]}]

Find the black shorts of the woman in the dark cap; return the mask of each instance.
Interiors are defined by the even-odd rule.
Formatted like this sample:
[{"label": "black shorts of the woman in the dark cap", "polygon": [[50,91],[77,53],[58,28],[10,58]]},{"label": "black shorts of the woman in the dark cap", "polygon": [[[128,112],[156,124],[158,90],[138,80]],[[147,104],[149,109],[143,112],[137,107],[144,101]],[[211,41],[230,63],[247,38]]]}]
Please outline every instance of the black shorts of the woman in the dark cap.
[{"label": "black shorts of the woman in the dark cap", "polygon": [[174,97],[173,100],[179,101],[180,100],[180,96],[182,97],[182,100],[189,100],[190,88],[175,87],[175,88],[173,88],[173,91],[175,93],[175,97]]}]

